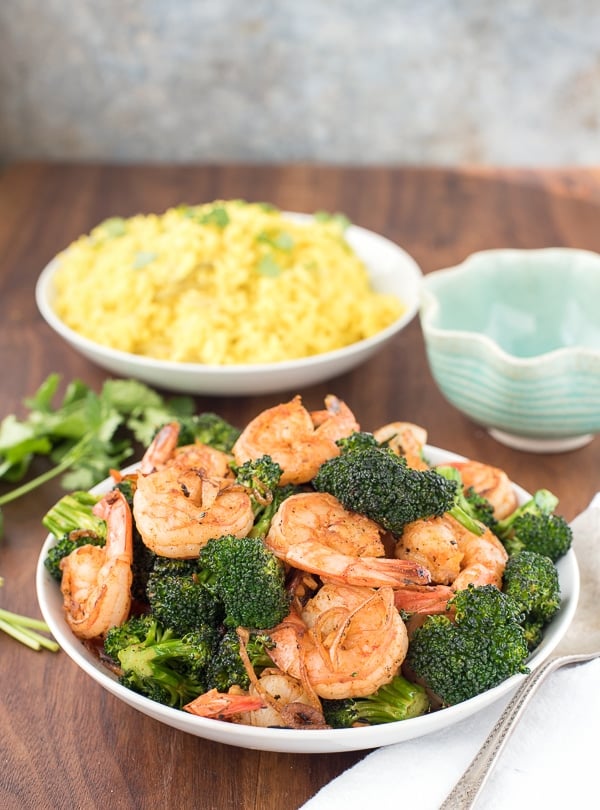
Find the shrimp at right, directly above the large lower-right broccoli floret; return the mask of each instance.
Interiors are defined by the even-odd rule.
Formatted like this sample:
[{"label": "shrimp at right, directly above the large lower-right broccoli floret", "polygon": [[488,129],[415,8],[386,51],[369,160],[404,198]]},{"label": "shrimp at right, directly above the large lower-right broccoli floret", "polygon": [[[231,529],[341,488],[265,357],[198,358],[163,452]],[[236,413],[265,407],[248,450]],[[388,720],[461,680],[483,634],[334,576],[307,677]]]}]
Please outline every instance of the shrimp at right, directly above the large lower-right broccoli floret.
[{"label": "shrimp at right, directly above the large lower-right broccoli floret", "polygon": [[448,514],[409,523],[396,543],[395,554],[426,565],[435,583],[397,592],[396,606],[418,613],[442,612],[454,593],[470,584],[501,588],[508,559],[490,529],[474,534]]}]

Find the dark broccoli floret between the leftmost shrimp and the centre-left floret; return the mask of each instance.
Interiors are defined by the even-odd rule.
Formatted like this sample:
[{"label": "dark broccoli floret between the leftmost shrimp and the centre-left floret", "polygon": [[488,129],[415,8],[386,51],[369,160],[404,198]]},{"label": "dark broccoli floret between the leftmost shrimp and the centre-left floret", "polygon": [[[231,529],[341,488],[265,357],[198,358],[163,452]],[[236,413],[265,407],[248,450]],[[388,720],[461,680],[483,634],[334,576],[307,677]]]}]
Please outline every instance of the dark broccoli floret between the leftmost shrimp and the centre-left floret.
[{"label": "dark broccoli floret between the leftmost shrimp and the centre-left floret", "polygon": [[156,556],[146,587],[156,620],[181,635],[203,625],[218,626],[223,620],[223,611],[214,589],[205,579],[197,559]]}]

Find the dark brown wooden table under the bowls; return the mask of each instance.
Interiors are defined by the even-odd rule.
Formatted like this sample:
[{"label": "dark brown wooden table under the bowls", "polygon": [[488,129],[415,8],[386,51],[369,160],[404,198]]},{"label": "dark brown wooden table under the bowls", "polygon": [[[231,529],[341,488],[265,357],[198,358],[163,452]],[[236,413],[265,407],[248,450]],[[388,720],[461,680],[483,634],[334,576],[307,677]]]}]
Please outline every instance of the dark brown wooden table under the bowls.
[{"label": "dark brown wooden table under the bowls", "polygon": [[[483,248],[600,251],[600,171],[15,165],[0,175],[0,416],[22,414],[24,397],[51,372],[95,388],[105,377],[37,313],[34,283],[46,262],[105,217],[216,198],[343,211],[404,246],[424,272]],[[598,439],[572,453],[529,455],[497,444],[448,405],[430,377],[418,320],[366,366],[300,393],[318,408],[330,391],[367,430],[396,419],[418,422],[431,444],[497,464],[529,490],[550,487],[568,519],[599,487]],[[197,404],[241,425],[287,398],[257,394]],[[40,519],[60,494],[48,484],[5,508],[0,605],[39,615]],[[293,810],[365,755],[298,756],[204,741],[121,703],[64,653],[36,653],[0,636],[0,654],[0,806],[6,810]]]}]

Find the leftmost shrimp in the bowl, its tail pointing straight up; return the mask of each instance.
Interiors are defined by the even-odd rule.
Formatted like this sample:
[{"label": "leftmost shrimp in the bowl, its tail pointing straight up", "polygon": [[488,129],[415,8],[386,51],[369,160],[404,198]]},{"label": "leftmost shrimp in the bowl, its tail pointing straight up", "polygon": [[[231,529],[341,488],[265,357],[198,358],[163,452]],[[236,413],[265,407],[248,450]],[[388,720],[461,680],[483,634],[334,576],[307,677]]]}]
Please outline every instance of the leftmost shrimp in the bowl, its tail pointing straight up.
[{"label": "leftmost shrimp in the bowl, its tail pointing straight up", "polygon": [[61,592],[67,624],[78,638],[104,636],[131,609],[133,538],[131,510],[112,490],[94,512],[106,520],[106,544],[84,545],[61,561]]}]

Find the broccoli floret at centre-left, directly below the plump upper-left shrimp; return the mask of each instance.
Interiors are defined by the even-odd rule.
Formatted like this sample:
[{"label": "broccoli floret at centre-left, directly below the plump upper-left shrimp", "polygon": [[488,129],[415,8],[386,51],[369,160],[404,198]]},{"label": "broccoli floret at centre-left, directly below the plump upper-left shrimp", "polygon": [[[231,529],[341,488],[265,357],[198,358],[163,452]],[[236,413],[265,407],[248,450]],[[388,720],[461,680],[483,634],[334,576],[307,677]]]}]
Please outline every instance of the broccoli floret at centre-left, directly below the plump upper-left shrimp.
[{"label": "broccoli floret at centre-left, directly below the plump upper-left shrimp", "polygon": [[283,564],[260,537],[209,540],[200,550],[200,565],[225,609],[229,627],[274,627],[289,612]]}]

